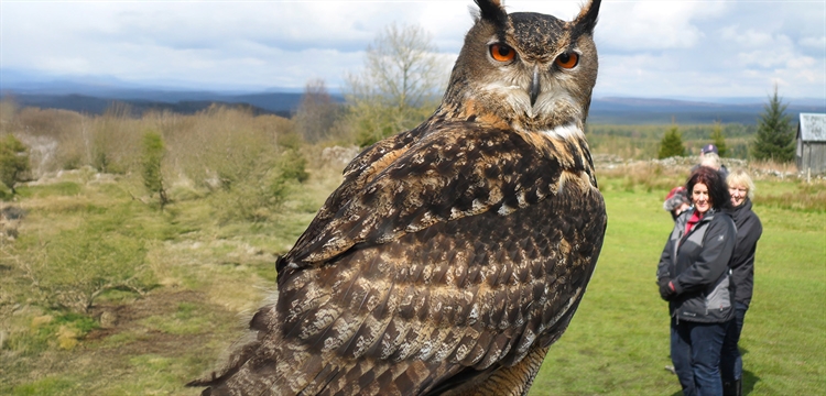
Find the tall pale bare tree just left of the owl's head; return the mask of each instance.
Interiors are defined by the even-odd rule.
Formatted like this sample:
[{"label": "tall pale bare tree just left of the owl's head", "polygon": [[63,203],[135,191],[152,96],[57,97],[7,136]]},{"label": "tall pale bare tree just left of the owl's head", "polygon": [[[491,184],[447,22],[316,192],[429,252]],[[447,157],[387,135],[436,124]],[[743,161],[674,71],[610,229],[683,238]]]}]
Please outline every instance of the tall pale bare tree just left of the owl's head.
[{"label": "tall pale bare tree just left of the owl's head", "polygon": [[347,76],[350,123],[360,145],[415,127],[437,106],[447,68],[419,25],[388,25],[367,47],[365,68]]}]

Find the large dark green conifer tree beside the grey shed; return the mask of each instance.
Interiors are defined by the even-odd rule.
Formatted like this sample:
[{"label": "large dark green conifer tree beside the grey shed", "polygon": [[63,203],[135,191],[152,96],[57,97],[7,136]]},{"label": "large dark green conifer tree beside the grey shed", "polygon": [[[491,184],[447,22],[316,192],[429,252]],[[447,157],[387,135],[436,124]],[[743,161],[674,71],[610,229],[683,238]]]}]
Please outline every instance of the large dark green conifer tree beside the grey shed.
[{"label": "large dark green conifer tree beside the grey shed", "polygon": [[789,105],[783,105],[778,97],[778,87],[769,103],[763,107],[758,120],[758,133],[751,146],[754,160],[772,160],[790,162],[794,160],[794,129],[792,120],[786,116]]}]

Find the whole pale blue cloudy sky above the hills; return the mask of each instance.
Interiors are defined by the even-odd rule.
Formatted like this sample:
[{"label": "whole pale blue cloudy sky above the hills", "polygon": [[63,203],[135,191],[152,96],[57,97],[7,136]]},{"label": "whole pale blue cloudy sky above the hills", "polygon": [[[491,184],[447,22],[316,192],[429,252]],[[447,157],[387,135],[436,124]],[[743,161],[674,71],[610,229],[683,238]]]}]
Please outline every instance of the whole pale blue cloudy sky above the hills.
[{"label": "whole pale blue cloudy sky above the hills", "polygon": [[[507,0],[509,12],[573,19],[586,0]],[[445,74],[472,0],[0,0],[2,72],[107,76],[198,89],[334,90],[391,23],[421,25]],[[826,1],[606,0],[595,31],[596,97],[771,95],[826,103]]]}]

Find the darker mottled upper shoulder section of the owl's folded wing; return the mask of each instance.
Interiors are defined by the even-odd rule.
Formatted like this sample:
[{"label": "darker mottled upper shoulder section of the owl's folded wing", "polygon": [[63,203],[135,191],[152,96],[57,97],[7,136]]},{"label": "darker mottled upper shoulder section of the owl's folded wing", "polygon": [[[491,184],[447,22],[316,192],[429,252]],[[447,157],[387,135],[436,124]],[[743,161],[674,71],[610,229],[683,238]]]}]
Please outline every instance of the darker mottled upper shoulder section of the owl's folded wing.
[{"label": "darker mottled upper shoulder section of the owl's folded wing", "polygon": [[472,123],[443,123],[380,161],[387,163],[359,166],[369,169],[334,193],[281,258],[280,278],[284,267],[323,263],[359,243],[385,243],[436,222],[539,202],[554,194],[561,175],[558,162],[520,135]]}]

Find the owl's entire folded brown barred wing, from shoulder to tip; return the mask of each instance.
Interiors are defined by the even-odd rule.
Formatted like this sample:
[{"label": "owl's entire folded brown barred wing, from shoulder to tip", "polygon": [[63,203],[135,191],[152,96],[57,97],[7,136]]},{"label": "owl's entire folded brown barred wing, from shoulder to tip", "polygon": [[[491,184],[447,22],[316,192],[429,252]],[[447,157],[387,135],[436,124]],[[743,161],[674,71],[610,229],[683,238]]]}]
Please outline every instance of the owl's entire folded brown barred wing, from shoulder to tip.
[{"label": "owl's entire folded brown barred wing, from shoulder to tip", "polygon": [[519,135],[428,135],[285,256],[278,302],[250,323],[256,340],[199,384],[216,394],[460,387],[562,334],[605,224],[589,176]]}]

